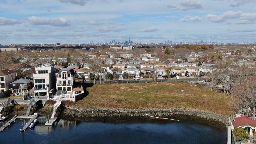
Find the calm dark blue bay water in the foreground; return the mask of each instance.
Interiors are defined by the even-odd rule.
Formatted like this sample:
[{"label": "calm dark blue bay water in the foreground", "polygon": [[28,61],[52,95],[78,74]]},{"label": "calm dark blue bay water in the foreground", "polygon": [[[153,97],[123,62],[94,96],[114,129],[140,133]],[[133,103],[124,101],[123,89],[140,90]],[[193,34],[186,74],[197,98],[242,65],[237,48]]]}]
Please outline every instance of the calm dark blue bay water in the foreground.
[{"label": "calm dark blue bay water in the foreground", "polygon": [[0,143],[227,143],[225,131],[196,121],[59,119],[44,126],[46,119],[40,116],[39,124],[23,133],[21,120],[16,120],[0,134]]}]

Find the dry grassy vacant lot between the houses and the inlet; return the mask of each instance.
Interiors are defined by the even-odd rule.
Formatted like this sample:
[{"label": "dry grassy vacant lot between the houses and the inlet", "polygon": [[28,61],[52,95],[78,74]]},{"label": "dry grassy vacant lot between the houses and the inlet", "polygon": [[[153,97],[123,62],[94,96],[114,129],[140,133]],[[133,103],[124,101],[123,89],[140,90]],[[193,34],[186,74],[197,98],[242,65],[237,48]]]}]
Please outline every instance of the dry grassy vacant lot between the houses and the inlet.
[{"label": "dry grassy vacant lot between the houses and the inlet", "polygon": [[[180,91],[180,89],[185,91]],[[78,101],[79,108],[132,108],[201,110],[228,116],[230,96],[188,83],[96,84]]]}]

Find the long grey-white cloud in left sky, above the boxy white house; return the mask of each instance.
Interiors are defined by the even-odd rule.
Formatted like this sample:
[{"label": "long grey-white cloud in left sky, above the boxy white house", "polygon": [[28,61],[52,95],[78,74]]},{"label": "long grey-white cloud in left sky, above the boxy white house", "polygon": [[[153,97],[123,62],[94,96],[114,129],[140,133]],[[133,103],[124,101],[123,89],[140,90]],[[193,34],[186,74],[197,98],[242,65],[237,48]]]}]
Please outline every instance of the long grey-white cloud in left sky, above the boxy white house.
[{"label": "long grey-white cloud in left sky, above the boxy white house", "polygon": [[71,25],[66,18],[50,18],[31,16],[24,18],[31,25],[50,25],[50,26],[69,26]]}]

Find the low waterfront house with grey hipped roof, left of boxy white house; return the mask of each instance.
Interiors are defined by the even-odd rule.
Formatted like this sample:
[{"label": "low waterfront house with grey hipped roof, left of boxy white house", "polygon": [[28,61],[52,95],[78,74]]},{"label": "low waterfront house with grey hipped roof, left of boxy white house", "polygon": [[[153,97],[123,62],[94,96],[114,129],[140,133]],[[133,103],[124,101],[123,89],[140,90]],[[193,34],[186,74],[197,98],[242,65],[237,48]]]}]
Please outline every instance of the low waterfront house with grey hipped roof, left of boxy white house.
[{"label": "low waterfront house with grey hipped roof, left of boxy white house", "polygon": [[18,93],[19,95],[26,95],[28,91],[32,88],[32,82],[24,78],[12,82],[11,85],[12,93]]}]

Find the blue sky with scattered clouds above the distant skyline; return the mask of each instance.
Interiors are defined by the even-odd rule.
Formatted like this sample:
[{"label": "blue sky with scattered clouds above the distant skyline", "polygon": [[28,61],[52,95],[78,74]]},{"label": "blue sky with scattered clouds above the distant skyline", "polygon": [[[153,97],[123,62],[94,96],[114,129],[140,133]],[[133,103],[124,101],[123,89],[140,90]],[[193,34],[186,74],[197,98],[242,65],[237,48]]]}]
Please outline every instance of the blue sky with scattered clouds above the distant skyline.
[{"label": "blue sky with scattered clouds above the distant skyline", "polygon": [[256,0],[0,0],[0,44],[255,42]]}]

